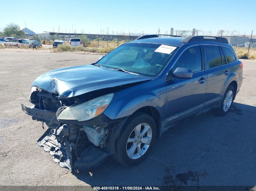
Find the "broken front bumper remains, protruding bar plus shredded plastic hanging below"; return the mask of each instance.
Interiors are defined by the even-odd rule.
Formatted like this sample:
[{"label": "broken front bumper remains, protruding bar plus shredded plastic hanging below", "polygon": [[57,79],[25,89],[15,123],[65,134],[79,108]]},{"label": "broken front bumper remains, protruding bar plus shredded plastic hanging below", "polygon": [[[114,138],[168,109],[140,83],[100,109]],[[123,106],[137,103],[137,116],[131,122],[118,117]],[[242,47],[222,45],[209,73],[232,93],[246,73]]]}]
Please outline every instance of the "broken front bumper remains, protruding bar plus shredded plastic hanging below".
[{"label": "broken front bumper remains, protruding bar plus shredded plastic hanging below", "polygon": [[[50,127],[38,139],[38,145],[44,147],[44,150],[52,155],[54,162],[60,167],[66,167],[70,171],[87,170],[100,165],[109,155],[109,152],[92,145],[86,136],[80,137],[80,125],[72,124],[70,126],[67,125],[69,123],[59,122],[54,118],[56,113],[52,111],[37,109],[34,106],[26,107],[24,104],[21,106],[22,110],[32,116],[33,120],[45,122]],[[100,120],[96,119],[97,121]],[[107,122],[103,121],[102,123]]]}]

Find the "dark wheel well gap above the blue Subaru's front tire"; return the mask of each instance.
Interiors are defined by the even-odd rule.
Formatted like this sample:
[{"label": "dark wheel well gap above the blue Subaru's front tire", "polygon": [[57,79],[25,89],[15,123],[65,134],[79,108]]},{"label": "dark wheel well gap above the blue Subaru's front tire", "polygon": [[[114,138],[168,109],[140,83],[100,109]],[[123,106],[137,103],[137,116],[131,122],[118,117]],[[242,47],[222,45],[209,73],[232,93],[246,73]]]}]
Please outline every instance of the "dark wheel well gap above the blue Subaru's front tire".
[{"label": "dark wheel well gap above the blue Subaru's front tire", "polygon": [[141,107],[137,111],[140,111],[142,113],[146,113],[154,119],[155,124],[156,124],[156,128],[157,128],[156,137],[158,138],[159,135],[160,135],[160,130],[161,130],[161,117],[160,117],[160,113],[158,112],[158,110],[155,107],[146,106],[146,107]]}]

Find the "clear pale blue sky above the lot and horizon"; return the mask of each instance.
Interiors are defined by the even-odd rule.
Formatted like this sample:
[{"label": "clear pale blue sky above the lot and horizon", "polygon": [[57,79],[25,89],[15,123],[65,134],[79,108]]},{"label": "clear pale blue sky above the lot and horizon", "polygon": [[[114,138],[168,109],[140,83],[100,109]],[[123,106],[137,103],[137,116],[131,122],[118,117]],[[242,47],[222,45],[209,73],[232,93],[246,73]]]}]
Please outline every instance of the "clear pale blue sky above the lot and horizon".
[{"label": "clear pale blue sky above the lot and horizon", "polygon": [[[0,11],[0,28],[9,23],[43,31],[103,34],[170,33],[175,30],[233,31],[256,34],[256,0],[13,0]],[[17,11],[10,9],[18,8]]]}]

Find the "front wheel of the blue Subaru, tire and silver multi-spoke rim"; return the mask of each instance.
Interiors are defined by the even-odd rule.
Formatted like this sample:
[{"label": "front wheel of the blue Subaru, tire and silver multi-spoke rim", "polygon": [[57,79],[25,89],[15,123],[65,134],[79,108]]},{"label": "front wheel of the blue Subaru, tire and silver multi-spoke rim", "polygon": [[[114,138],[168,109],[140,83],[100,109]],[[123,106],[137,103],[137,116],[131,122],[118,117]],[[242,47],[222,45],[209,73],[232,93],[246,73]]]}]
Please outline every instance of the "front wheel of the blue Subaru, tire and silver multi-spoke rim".
[{"label": "front wheel of the blue Subaru, tire and silver multi-spoke rim", "polygon": [[154,119],[145,113],[135,113],[123,127],[116,142],[116,161],[124,166],[141,163],[148,156],[156,139]]}]

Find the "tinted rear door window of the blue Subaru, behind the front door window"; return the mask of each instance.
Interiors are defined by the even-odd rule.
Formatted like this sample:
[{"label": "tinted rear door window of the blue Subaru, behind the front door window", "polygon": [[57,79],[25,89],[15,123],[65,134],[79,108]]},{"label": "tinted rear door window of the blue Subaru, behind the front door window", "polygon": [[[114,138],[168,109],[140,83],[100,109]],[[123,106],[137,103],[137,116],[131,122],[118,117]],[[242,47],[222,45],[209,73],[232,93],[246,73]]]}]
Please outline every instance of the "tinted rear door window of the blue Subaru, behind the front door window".
[{"label": "tinted rear door window of the blue Subaru, behind the front door window", "polygon": [[205,69],[221,65],[221,53],[219,46],[204,45],[204,52],[206,57]]}]

